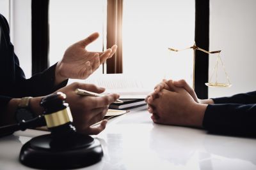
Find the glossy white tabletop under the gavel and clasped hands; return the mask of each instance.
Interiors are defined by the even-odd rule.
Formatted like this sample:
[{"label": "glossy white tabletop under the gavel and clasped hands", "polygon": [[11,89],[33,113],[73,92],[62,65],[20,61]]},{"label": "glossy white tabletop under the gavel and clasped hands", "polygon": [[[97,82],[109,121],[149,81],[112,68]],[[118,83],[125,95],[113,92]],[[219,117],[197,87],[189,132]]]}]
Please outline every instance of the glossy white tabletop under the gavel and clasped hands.
[{"label": "glossy white tabletop under the gavel and clasped hands", "polygon": [[[104,157],[83,169],[256,169],[256,139],[154,124],[145,108],[113,118],[104,132],[93,136]],[[45,133],[27,130],[0,138],[0,169],[30,169],[19,162],[20,148]]]}]

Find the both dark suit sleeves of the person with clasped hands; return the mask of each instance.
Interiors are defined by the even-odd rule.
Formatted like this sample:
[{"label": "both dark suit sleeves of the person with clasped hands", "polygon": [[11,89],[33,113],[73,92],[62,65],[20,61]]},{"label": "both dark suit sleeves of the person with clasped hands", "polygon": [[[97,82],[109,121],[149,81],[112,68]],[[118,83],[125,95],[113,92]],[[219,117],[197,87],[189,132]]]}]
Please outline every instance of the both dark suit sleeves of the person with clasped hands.
[{"label": "both dark suit sleeves of the person with clasped hands", "polygon": [[213,99],[203,126],[209,132],[256,136],[256,91]]}]

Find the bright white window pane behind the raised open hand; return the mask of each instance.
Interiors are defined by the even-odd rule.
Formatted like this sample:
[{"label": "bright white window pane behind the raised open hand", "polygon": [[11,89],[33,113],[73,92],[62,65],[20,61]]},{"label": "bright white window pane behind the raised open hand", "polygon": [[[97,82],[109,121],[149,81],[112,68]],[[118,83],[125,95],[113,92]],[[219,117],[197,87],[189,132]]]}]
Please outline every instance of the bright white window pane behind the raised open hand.
[{"label": "bright white window pane behind the raised open hand", "polygon": [[[93,32],[99,32],[100,37],[87,49],[100,51],[106,46],[106,0],[50,1],[49,25],[50,66],[63,57],[68,46]],[[102,73],[102,67],[99,67],[97,72]]]}]

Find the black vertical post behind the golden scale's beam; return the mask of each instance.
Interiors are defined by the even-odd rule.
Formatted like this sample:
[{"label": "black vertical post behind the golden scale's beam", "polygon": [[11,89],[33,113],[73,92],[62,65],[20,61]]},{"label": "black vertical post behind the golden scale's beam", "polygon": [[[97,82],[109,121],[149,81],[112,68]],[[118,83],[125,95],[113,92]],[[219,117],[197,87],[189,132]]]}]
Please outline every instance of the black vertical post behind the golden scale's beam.
[{"label": "black vertical post behind the golden scale's beam", "polygon": [[[209,51],[209,0],[195,0],[195,42]],[[199,99],[208,98],[209,54],[196,50],[195,92]]]}]

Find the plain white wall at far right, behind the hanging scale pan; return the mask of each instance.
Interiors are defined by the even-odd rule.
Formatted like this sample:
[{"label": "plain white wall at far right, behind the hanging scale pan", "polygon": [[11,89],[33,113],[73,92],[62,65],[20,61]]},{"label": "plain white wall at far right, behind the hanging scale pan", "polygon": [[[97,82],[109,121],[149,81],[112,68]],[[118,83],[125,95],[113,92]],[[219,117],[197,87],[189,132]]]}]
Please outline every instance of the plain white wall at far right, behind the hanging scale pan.
[{"label": "plain white wall at far right, behind the hanging scale pan", "polygon": [[[210,50],[222,50],[221,59],[232,87],[210,87],[209,97],[230,96],[256,90],[255,8],[255,0],[210,1]],[[215,57],[209,58],[210,74],[215,62]],[[224,73],[222,80],[225,80],[223,75]]]}]

